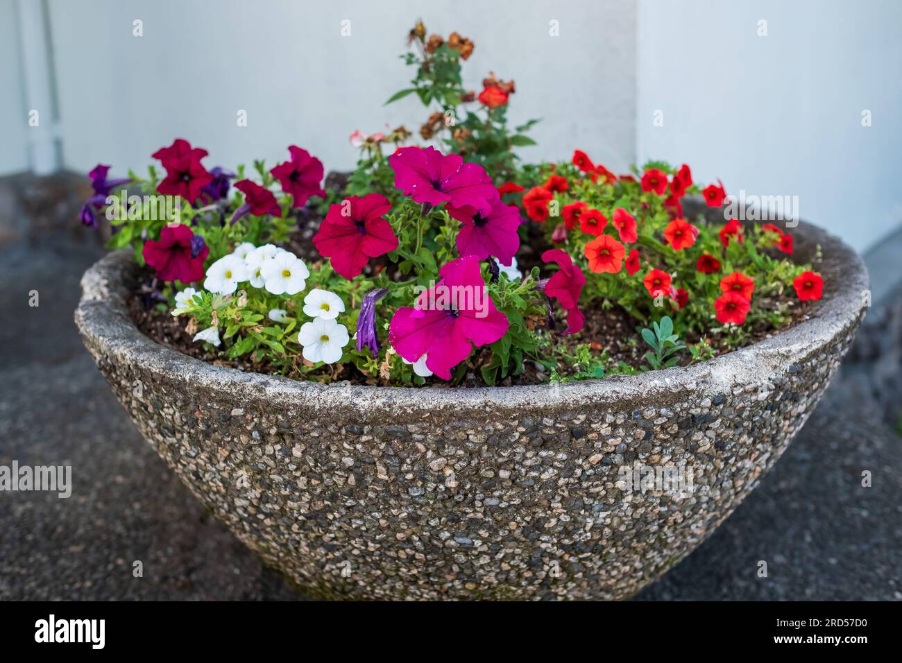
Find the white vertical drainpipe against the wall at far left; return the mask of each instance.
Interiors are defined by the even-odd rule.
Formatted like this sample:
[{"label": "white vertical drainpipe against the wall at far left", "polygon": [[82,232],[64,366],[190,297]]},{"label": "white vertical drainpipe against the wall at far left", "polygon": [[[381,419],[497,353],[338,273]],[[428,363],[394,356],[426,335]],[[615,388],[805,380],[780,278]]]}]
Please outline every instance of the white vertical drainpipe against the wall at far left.
[{"label": "white vertical drainpipe against the wall at far left", "polygon": [[29,161],[35,175],[50,175],[60,168],[60,150],[47,43],[47,5],[43,0],[18,0],[18,10]]}]

